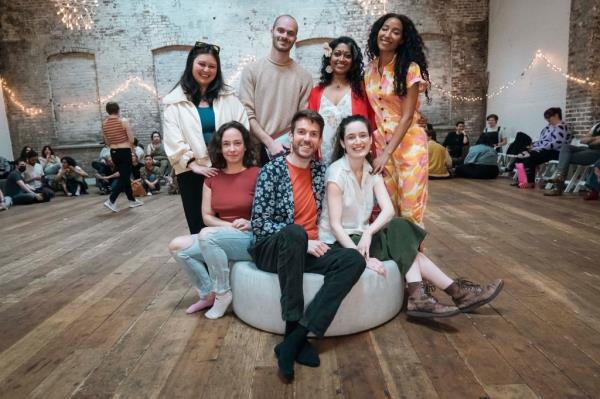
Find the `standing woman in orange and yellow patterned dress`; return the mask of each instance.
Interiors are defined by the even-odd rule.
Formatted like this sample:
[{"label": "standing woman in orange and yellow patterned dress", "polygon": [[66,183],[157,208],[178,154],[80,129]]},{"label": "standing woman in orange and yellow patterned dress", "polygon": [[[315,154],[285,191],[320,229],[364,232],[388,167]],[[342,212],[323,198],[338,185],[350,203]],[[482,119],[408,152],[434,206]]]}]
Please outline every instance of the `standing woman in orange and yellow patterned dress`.
[{"label": "standing woman in orange and yellow patterned dress", "polygon": [[423,226],[427,202],[427,134],[418,125],[419,94],[428,97],[423,40],[406,16],[389,13],[371,27],[365,86],[375,111],[372,173],[384,173],[396,214]]}]

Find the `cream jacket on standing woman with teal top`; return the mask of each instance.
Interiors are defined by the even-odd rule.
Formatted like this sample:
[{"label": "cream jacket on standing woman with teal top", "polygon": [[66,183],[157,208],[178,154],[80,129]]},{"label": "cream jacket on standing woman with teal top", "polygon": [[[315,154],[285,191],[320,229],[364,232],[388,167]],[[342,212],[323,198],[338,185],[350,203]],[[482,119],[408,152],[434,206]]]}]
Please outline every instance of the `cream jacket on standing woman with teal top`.
[{"label": "cream jacket on standing woman with teal top", "polygon": [[[196,158],[196,163],[210,166],[210,158],[204,136],[202,124],[196,106],[187,99],[181,86],[177,86],[164,99],[163,135],[164,147],[169,162],[176,174],[189,171],[187,164],[190,159]],[[244,106],[235,96],[233,90],[222,90],[219,97],[213,101],[215,111],[215,128],[224,123],[238,121],[246,128],[250,128],[248,115]]]}]

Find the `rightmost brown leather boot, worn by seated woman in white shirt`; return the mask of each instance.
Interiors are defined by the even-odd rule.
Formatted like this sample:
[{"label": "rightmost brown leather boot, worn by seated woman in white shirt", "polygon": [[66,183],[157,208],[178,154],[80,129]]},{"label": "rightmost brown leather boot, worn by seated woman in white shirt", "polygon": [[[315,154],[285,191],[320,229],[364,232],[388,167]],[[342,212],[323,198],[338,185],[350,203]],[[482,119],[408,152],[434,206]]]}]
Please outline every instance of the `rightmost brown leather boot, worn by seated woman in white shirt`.
[{"label": "rightmost brown leather boot, worn by seated woman in white shirt", "polygon": [[459,278],[444,291],[452,297],[461,312],[467,313],[490,302],[502,291],[503,286],[504,281],[501,279],[494,280],[482,287],[469,280]]}]

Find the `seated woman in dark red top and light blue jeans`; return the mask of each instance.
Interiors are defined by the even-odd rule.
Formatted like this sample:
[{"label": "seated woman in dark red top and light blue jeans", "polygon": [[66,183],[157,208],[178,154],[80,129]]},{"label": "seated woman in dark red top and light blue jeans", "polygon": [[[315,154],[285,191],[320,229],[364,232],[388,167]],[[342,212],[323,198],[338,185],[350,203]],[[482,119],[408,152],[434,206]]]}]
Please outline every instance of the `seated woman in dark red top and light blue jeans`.
[{"label": "seated woman in dark red top and light blue jeans", "polygon": [[218,319],[233,299],[229,261],[252,260],[247,251],[254,240],[250,213],[260,169],[255,166],[250,133],[239,122],[222,125],[208,145],[208,153],[219,173],[204,180],[202,218],[207,227],[197,235],[176,237],[169,250],[200,295],[187,313],[212,306],[205,316]]}]

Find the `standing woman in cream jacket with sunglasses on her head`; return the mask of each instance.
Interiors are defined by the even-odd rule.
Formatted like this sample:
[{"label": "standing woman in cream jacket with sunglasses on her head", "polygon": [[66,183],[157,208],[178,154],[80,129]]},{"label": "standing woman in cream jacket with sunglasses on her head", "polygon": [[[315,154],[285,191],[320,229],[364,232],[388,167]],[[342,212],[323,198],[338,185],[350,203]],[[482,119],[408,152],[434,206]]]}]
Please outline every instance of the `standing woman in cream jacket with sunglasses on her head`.
[{"label": "standing woman in cream jacket with sunglasses on her head", "polygon": [[183,210],[191,234],[205,227],[202,186],[217,174],[207,146],[224,123],[237,121],[249,128],[244,106],[221,73],[219,47],[196,42],[190,50],[178,85],[164,99],[164,147],[177,175]]}]

